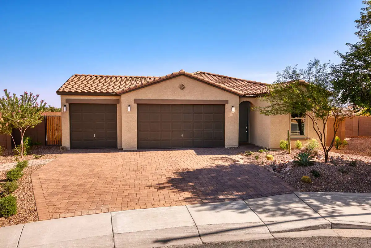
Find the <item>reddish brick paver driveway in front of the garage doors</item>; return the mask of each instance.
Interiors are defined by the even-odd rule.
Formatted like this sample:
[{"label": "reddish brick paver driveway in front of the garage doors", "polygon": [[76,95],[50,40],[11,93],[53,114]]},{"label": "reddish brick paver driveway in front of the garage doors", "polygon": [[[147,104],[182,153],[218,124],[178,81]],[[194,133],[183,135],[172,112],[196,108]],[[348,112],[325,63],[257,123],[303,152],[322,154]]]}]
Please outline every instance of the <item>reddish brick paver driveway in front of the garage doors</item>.
[{"label": "reddish brick paver driveway in front of the garage doors", "polygon": [[[32,174],[40,219],[291,193],[239,149],[71,150]],[[246,150],[246,149],[244,149]]]}]

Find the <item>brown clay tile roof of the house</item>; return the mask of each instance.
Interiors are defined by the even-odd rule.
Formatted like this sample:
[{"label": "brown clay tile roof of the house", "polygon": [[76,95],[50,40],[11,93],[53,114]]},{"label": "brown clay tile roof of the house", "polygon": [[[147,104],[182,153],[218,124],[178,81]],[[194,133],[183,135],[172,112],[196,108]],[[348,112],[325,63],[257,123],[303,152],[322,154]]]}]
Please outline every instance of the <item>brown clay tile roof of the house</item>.
[{"label": "brown clay tile roof of the house", "polygon": [[268,92],[266,84],[233,78],[210,72],[185,72],[183,69],[165,76],[109,76],[75,74],[71,76],[56,92],[81,94],[124,94],[134,89],[161,82],[179,75],[195,78],[206,84],[214,85],[236,95],[254,96]]}]

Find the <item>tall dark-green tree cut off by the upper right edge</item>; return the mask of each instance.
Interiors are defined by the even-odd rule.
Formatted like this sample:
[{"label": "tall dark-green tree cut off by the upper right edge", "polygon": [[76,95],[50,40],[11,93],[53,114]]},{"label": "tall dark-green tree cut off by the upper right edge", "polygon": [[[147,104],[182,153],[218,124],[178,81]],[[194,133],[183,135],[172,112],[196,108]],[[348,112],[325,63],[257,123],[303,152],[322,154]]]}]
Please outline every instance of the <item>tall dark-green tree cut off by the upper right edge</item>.
[{"label": "tall dark-green tree cut off by the upper right edge", "polygon": [[360,41],[347,43],[349,51],[335,53],[342,63],[334,66],[335,88],[343,102],[351,102],[371,113],[371,0],[363,1],[361,17],[355,20]]}]

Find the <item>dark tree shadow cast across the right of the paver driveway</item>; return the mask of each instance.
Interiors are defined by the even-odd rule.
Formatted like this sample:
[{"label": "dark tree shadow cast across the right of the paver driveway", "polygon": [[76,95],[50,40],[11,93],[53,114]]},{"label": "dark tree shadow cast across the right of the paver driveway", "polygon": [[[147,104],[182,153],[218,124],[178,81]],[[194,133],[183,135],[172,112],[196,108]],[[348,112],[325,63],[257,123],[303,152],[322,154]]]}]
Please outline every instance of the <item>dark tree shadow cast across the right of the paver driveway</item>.
[{"label": "dark tree shadow cast across the right of the paver driveway", "polygon": [[188,204],[252,199],[292,193],[294,190],[282,179],[255,164],[239,164],[230,157],[218,159],[224,160],[223,164],[194,170],[177,169],[164,183],[151,187],[184,193],[188,196],[183,200]]}]

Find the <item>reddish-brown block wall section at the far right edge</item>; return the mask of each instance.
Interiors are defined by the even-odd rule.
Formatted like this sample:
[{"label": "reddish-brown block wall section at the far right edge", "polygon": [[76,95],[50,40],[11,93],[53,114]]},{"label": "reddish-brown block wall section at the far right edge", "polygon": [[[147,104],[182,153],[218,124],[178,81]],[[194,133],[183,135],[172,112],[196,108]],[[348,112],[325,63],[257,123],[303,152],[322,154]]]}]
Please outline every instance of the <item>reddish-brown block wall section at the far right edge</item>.
[{"label": "reddish-brown block wall section at the far right edge", "polygon": [[371,116],[345,118],[346,137],[371,137]]}]

